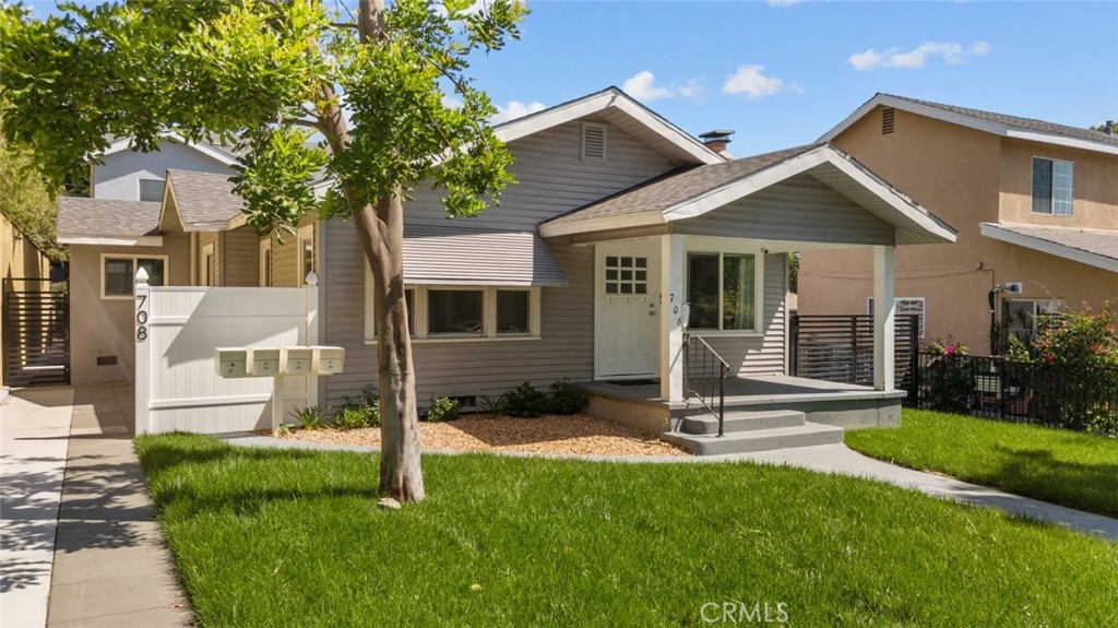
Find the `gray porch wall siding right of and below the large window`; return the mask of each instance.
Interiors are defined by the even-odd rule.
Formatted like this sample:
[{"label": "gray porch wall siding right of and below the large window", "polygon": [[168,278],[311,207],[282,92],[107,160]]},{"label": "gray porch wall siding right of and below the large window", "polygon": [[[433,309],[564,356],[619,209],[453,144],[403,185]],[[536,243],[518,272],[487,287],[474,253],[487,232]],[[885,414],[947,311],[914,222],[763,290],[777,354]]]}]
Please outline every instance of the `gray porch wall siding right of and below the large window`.
[{"label": "gray porch wall siding right of and below the large window", "polygon": [[741,375],[784,374],[785,331],[788,292],[787,256],[765,256],[765,307],[761,316],[764,335],[750,337],[704,336],[722,359]]}]

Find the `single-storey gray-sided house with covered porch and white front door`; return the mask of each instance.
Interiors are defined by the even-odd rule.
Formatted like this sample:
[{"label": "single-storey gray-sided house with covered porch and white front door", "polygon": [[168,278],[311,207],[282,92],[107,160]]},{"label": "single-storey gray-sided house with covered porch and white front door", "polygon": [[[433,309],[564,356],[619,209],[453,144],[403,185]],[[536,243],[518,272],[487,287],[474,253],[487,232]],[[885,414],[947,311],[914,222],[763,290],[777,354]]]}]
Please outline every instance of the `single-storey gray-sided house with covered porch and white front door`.
[{"label": "single-storey gray-sided house with covered porch and white front door", "polygon": [[[494,131],[517,178],[499,207],[452,220],[423,185],[406,204],[420,400],[471,406],[524,381],[567,379],[590,391],[593,413],[670,432],[699,453],[730,450],[731,441],[737,450],[833,441],[833,426],[899,420],[893,251],[955,237],[927,209],[830,143],[736,160],[615,87]],[[190,235],[186,217],[197,208],[187,190],[228,216],[207,213],[217,219],[209,235],[188,238],[190,280],[201,283],[193,274],[208,266],[198,247],[210,244],[201,238],[250,249],[230,247],[240,204],[215,191],[227,184],[221,177],[171,169],[167,179],[161,234]],[[319,399],[337,407],[378,381],[371,270],[350,222],[311,227],[309,246],[295,253],[320,277],[321,342],[345,349],[344,372],[318,383]],[[257,246],[263,254],[264,240]],[[839,249],[875,259],[873,389],[787,377],[787,254]],[[263,259],[258,285],[269,285]],[[724,364],[729,410],[699,391],[697,361]],[[723,445],[705,434],[714,415]]]}]

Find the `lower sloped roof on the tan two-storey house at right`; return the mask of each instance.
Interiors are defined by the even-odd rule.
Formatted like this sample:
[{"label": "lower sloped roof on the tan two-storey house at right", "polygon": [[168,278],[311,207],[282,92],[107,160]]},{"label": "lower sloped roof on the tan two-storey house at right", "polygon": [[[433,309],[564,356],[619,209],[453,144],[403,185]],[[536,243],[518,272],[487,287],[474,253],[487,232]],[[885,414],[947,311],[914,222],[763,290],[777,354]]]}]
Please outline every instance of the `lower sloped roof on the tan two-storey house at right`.
[{"label": "lower sloped roof on the tan two-storey house at right", "polygon": [[993,240],[1118,273],[1118,231],[979,222],[978,232]]}]

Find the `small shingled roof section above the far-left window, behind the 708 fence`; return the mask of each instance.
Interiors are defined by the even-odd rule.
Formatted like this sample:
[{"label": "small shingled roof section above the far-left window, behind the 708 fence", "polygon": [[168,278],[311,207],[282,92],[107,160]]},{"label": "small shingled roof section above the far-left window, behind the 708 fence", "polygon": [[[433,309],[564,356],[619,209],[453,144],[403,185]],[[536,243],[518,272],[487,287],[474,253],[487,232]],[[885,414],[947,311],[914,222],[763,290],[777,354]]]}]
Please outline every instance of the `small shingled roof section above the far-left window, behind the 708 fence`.
[{"label": "small shingled roof section above the far-left window, behind the 708 fence", "polygon": [[58,244],[159,246],[159,203],[59,197]]}]

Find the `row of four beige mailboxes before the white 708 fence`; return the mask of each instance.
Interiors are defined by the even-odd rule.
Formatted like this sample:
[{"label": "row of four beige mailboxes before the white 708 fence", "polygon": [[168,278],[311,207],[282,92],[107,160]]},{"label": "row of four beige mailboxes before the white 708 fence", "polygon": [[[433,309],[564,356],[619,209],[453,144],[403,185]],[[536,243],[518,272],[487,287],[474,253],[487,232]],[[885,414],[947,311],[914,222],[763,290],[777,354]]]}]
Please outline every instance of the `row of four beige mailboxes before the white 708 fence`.
[{"label": "row of four beige mailboxes before the white 708 fence", "polygon": [[217,374],[222,378],[330,375],[342,372],[341,346],[219,346]]}]

